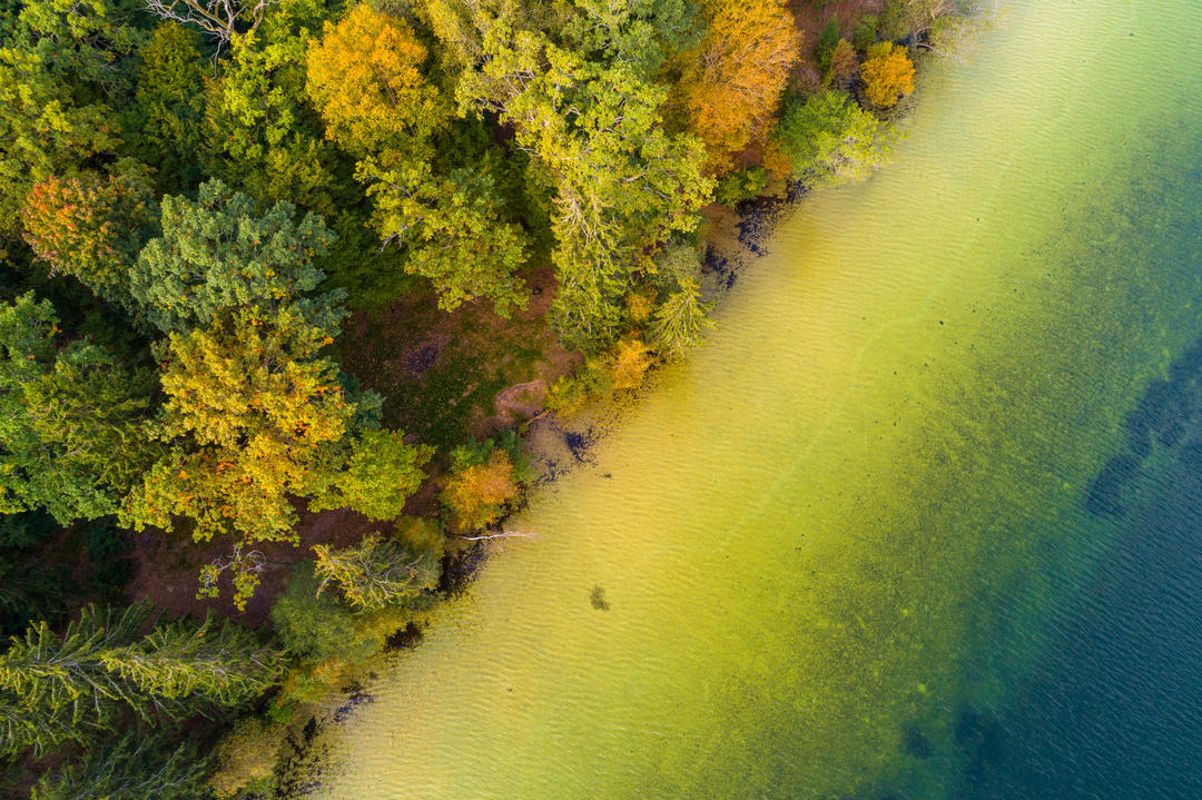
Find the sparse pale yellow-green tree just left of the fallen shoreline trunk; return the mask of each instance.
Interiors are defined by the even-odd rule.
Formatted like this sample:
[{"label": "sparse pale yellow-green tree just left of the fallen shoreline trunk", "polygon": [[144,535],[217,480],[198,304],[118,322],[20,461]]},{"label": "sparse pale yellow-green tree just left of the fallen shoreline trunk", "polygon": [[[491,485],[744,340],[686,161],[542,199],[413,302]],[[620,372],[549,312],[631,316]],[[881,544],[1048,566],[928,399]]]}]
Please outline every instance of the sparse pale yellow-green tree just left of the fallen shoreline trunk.
[{"label": "sparse pale yellow-green tree just left of the fallen shoreline trunk", "polygon": [[439,550],[417,550],[369,533],[358,544],[341,550],[317,544],[313,548],[319,593],[337,586],[352,608],[375,610],[407,605],[433,590],[441,574]]}]

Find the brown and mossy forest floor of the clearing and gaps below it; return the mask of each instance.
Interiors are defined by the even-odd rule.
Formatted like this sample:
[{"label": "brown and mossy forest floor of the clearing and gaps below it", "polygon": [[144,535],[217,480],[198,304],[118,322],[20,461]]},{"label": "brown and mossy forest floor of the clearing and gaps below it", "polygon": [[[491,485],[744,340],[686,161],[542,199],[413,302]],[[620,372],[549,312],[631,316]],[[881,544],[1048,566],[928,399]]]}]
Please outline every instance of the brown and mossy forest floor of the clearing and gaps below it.
[{"label": "brown and mossy forest floor of the clearing and gaps below it", "polygon": [[[582,360],[560,347],[548,329],[547,311],[555,293],[551,269],[534,270],[529,281],[529,305],[508,320],[487,303],[446,312],[433,295],[423,294],[399,298],[375,311],[355,311],[344,324],[338,356],[363,388],[385,399],[383,425],[439,449],[427,466],[430,477],[409,498],[406,514],[438,513],[438,478],[451,448],[534,417],[547,387]],[[196,597],[200,566],[227,556],[226,541],[197,547],[186,536],[136,535],[137,571],[126,593],[130,599],[149,598],[172,616],[213,611],[261,625],[292,567],[309,557],[314,544],[349,547],[370,531],[389,527],[347,509],[314,514],[298,503],[297,511],[299,547],[286,542],[256,545],[266,567],[242,614],[231,603],[228,575],[220,581],[218,598]]]}]

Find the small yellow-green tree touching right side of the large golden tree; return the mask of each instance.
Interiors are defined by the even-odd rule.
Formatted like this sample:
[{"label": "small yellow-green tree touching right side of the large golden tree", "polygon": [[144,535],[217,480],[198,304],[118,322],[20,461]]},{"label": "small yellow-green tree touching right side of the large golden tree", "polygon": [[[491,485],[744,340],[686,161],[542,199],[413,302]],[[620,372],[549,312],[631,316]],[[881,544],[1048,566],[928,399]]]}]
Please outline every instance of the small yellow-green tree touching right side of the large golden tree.
[{"label": "small yellow-green tree touching right side of the large golden tree", "polygon": [[359,432],[344,464],[326,471],[327,484],[315,489],[309,511],[352,508],[381,521],[400,517],[405,501],[426,479],[422,467],[434,455],[432,447],[405,444],[404,436],[399,430]]}]

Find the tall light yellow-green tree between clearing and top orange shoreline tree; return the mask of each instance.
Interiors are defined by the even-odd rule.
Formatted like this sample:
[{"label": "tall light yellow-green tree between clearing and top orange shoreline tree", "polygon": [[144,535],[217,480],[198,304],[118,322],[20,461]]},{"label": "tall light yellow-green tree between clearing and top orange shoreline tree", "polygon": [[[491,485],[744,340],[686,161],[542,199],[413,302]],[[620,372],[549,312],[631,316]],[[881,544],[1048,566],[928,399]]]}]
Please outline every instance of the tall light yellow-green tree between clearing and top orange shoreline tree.
[{"label": "tall light yellow-green tree between clearing and top orange shoreline tree", "polygon": [[462,90],[517,126],[519,145],[557,187],[554,322],[565,344],[596,350],[618,333],[621,299],[647,265],[639,255],[696,227],[713,189],[702,174],[704,148],[664,130],[666,90],[631,67],[504,34],[500,22],[489,29],[492,58]]}]

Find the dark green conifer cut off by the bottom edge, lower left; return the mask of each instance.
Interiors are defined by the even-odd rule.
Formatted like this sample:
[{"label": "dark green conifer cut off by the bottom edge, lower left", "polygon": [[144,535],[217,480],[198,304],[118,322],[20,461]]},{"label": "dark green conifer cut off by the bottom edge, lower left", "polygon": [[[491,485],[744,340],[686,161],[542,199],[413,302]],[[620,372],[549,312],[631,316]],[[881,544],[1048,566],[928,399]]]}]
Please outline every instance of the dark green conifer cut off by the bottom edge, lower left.
[{"label": "dark green conifer cut off by the bottom edge, lower left", "polygon": [[207,794],[212,760],[172,736],[131,733],[88,752],[81,764],[47,774],[31,800],[197,800]]}]

